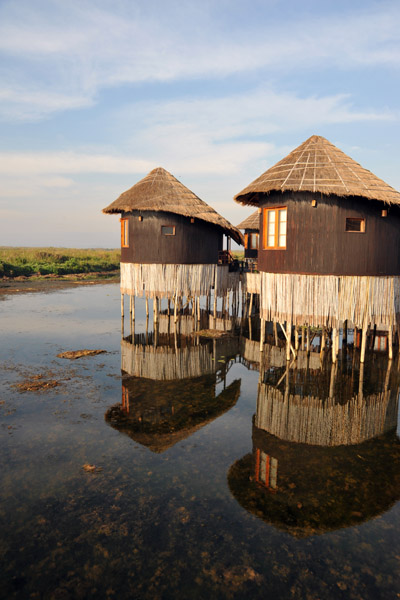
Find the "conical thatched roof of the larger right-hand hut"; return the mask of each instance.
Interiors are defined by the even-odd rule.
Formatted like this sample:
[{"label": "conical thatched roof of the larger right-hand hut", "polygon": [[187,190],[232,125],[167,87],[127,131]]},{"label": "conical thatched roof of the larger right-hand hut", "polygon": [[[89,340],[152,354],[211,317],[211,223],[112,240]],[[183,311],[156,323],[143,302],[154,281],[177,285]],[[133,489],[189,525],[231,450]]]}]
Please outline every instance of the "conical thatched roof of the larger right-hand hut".
[{"label": "conical thatched roof of the larger right-hand hut", "polygon": [[386,204],[400,204],[400,192],[318,135],[311,136],[234,199],[241,204],[257,206],[258,193],[273,191],[362,196]]}]

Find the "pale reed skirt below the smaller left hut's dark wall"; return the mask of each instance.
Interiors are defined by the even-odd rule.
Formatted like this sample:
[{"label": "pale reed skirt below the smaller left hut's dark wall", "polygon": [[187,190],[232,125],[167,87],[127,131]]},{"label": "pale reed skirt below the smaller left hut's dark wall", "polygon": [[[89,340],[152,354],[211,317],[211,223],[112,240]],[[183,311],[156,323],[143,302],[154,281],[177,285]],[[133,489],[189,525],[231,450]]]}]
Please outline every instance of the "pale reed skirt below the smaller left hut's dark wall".
[{"label": "pale reed skirt below the smaller left hut's dark wall", "polygon": [[223,297],[239,283],[239,273],[228,266],[121,263],[121,292],[138,297],[208,296],[213,286]]}]

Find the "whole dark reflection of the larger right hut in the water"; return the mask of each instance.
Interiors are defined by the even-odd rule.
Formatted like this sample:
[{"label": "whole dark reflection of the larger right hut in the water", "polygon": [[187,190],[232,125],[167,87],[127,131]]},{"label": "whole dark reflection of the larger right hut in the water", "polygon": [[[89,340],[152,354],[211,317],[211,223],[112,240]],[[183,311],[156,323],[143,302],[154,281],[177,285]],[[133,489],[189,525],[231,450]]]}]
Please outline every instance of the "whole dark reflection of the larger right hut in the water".
[{"label": "whole dark reflection of the larger right hut in the water", "polygon": [[370,357],[260,373],[253,451],[228,473],[251,513],[296,537],[356,525],[400,498],[399,373]]}]

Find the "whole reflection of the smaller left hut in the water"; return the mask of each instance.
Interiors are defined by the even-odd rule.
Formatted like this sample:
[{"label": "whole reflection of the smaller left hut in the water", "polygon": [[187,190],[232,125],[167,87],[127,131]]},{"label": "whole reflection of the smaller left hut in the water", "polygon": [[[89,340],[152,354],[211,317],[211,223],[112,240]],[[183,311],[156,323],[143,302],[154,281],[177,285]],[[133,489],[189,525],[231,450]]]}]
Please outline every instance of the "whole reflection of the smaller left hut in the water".
[{"label": "whole reflection of the smaller left hut in the water", "polygon": [[192,435],[240,396],[240,379],[226,385],[238,338],[192,336],[189,319],[179,320],[186,333],[178,334],[171,321],[161,331],[121,341],[122,401],[105,415],[112,427],[153,452]]}]

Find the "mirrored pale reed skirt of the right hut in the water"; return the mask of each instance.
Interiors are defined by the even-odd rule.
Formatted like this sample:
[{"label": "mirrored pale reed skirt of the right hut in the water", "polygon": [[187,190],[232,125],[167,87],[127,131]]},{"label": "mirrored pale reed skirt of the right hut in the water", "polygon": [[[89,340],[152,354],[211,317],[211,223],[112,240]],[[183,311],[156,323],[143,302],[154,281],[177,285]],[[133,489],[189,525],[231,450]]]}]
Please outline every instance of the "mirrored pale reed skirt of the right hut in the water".
[{"label": "mirrored pale reed skirt of the right hut in the water", "polygon": [[255,425],[289,442],[318,446],[360,444],[397,424],[398,386],[345,404],[335,398],[285,395],[259,384]]}]

